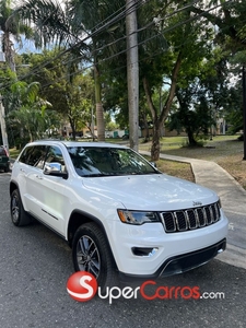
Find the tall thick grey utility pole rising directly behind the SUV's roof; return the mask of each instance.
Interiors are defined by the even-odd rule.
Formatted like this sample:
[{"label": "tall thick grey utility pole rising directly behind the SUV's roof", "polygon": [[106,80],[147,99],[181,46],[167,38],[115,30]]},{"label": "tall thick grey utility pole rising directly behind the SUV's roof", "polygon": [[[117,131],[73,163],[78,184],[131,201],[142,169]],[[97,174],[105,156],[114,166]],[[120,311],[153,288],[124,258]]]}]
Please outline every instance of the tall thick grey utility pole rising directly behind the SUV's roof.
[{"label": "tall thick grey utility pole rising directly behind the SUV's roof", "polygon": [[126,1],[127,80],[130,148],[139,150],[139,55],[136,0]]}]

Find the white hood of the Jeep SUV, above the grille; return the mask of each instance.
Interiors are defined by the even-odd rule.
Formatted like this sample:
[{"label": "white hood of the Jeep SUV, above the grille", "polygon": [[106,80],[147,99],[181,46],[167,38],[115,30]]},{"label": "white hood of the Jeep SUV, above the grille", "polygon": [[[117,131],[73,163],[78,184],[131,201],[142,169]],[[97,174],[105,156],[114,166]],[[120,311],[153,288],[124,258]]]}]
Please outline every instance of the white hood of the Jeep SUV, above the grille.
[{"label": "white hood of the Jeep SUV, above the grille", "polygon": [[165,174],[89,177],[83,184],[129,210],[188,209],[218,200],[212,190]]}]

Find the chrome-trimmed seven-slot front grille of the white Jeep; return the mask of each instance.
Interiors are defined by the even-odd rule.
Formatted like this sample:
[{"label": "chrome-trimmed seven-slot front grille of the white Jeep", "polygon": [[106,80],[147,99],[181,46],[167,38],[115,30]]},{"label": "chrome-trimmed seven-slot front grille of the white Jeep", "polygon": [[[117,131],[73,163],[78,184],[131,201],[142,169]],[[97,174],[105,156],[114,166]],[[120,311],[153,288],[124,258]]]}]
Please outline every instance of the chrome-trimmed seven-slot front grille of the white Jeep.
[{"label": "chrome-trimmed seven-slot front grille of the white Jeep", "polygon": [[195,209],[162,212],[161,218],[166,233],[190,231],[218,222],[220,204],[215,202]]}]

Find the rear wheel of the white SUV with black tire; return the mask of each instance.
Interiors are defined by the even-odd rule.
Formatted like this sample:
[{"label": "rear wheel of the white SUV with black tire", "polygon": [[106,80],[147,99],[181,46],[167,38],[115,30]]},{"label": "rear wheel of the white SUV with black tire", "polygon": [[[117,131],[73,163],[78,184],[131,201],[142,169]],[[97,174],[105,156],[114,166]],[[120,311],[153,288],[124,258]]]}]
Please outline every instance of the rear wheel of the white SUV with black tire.
[{"label": "rear wheel of the white SUV with black tire", "polygon": [[17,189],[14,189],[10,199],[11,220],[14,225],[22,226],[32,222],[31,216],[23,208],[21,196]]}]

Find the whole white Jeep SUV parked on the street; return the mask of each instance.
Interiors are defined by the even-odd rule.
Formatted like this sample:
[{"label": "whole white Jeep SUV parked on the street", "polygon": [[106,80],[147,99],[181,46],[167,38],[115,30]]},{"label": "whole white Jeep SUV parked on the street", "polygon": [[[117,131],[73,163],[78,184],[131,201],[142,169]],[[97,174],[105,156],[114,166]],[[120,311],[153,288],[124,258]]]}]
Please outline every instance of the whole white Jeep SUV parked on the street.
[{"label": "whole white Jeep SUV parked on the street", "polygon": [[74,269],[98,285],[157,278],[206,263],[225,249],[218,196],[165,175],[124,145],[40,140],[15,161],[10,181],[16,226],[37,219],[72,246]]}]

